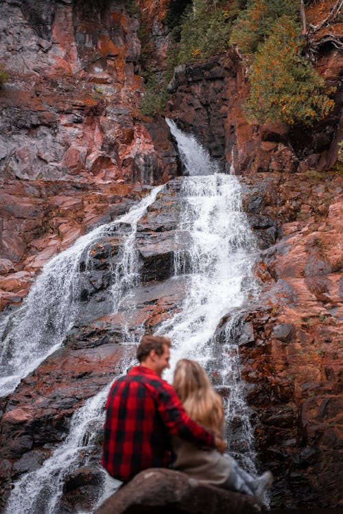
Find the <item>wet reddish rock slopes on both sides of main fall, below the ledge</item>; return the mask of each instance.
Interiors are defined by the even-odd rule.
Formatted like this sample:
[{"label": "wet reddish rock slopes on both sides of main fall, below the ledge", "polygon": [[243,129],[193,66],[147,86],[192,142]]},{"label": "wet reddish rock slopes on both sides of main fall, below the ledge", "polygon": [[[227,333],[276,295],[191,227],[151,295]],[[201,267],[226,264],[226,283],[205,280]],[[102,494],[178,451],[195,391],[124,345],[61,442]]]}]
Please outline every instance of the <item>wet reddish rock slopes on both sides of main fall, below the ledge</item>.
[{"label": "wet reddish rock slopes on both sides of main fall, below the ledge", "polygon": [[[235,337],[259,460],[276,477],[272,505],[334,506],[340,500],[342,428],[340,178],[260,174],[241,183],[261,246],[256,265],[261,293],[240,310]],[[134,334],[143,323],[154,331],[179,308],[187,285],[185,278],[171,278],[179,189],[180,178],[169,182],[139,220],[142,283],[118,314],[111,314],[110,269],[125,226],[123,233],[95,244],[92,270],[80,265],[82,302],[64,347],[3,399],[4,484],[49,456],[73,411],[110,382],[124,355],[132,355],[134,348],[121,345],[123,330]],[[218,347],[227,321],[217,327]],[[98,458],[99,447],[88,474],[81,469],[66,490],[96,476]]]}]

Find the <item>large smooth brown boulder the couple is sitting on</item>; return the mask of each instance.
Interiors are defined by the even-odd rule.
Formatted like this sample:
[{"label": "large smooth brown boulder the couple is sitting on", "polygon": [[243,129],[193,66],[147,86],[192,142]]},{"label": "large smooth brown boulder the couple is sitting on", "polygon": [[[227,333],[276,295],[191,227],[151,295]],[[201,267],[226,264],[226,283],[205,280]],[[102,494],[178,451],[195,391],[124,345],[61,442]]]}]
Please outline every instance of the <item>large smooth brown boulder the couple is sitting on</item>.
[{"label": "large smooth brown boulder the couple is sitting on", "polygon": [[205,486],[180,471],[141,471],[95,511],[95,514],[255,514],[250,496]]}]

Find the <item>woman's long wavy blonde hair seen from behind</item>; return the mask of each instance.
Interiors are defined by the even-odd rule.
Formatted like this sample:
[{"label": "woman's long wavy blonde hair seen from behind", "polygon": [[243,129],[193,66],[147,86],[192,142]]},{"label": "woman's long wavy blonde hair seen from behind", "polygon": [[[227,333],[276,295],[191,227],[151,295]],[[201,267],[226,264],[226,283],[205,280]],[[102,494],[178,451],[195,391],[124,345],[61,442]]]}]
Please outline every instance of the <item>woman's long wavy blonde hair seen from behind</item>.
[{"label": "woman's long wavy blonde hair seen from behind", "polygon": [[179,360],[173,385],[189,417],[217,436],[222,436],[222,398],[215,393],[204,368],[195,360]]}]

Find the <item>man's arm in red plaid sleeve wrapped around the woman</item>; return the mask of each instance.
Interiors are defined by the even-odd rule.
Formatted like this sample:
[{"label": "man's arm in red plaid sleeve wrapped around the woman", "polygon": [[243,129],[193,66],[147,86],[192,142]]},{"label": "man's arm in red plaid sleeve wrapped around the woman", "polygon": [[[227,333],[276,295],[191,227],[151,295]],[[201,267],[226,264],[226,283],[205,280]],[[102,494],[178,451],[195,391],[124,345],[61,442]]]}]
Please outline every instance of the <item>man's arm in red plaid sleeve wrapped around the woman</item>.
[{"label": "man's arm in red plaid sleeve wrapped around the woman", "polygon": [[156,403],[158,412],[171,434],[178,434],[182,439],[195,445],[213,447],[222,453],[225,451],[226,443],[211,432],[207,432],[189,417],[174,388],[167,382],[161,384],[161,389],[157,392]]}]

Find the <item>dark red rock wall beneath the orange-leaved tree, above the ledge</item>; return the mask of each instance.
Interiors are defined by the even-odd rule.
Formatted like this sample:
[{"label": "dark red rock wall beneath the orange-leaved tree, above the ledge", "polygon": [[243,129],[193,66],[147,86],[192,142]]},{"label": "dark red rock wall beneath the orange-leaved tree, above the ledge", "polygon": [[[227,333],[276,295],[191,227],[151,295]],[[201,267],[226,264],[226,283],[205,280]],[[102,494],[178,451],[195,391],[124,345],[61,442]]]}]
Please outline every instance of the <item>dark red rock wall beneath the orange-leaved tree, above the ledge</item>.
[{"label": "dark red rock wall beneath the orange-leaved tree, above the ledge", "polygon": [[[338,86],[342,65],[332,47],[319,60],[318,71],[330,86]],[[167,115],[195,134],[226,172],[305,172],[337,161],[343,134],[339,92],[333,112],[311,128],[251,125],[242,109],[249,95],[246,69],[233,50],[206,63],[177,67],[169,89]]]}]

